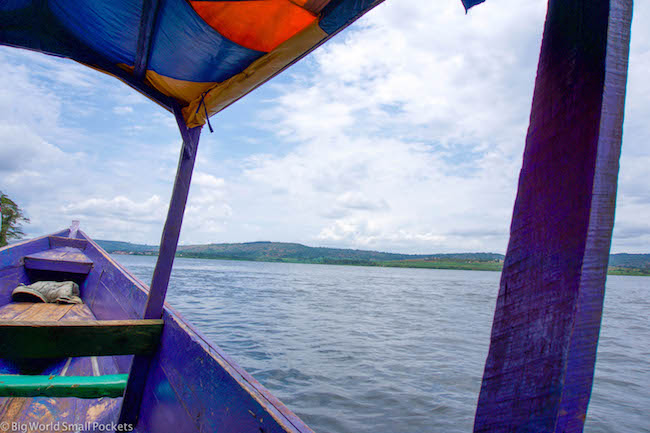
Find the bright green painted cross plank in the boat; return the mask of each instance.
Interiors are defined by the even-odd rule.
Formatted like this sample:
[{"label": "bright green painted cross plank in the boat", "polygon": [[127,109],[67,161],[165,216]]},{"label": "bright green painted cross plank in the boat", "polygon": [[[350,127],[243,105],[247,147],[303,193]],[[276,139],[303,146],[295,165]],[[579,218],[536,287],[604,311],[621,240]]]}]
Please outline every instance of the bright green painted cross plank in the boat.
[{"label": "bright green painted cross plank in the boat", "polygon": [[0,397],[120,397],[126,374],[105,376],[0,375]]}]

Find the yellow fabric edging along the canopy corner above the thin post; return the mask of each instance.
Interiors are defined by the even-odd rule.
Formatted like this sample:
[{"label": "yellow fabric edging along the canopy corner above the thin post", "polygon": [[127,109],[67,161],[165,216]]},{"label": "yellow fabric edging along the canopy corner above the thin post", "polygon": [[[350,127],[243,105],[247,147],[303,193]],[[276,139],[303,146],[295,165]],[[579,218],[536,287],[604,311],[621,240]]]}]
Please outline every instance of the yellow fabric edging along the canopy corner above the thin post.
[{"label": "yellow fabric edging along the canopy corner above the thin post", "polygon": [[[318,22],[315,22],[296,36],[279,45],[270,53],[257,59],[243,72],[217,84],[190,83],[179,80],[172,81],[170,78],[162,77],[157,74],[155,81],[153,81],[149,76],[150,71],[147,71],[147,79],[150,79],[151,84],[159,91],[181,100],[186,100],[185,98],[191,95],[198,95],[192,98],[192,102],[189,106],[183,108],[183,117],[185,117],[185,122],[188,127],[193,128],[195,126],[203,125],[206,121],[205,110],[201,108],[197,113],[197,108],[201,103],[201,95],[207,88],[209,88],[209,90],[205,95],[204,101],[208,109],[208,114],[212,116],[237,101],[260,84],[264,83],[276,73],[280,72],[303,53],[311,50],[315,45],[318,45],[318,43],[326,37],[327,34],[318,26]],[[155,73],[152,72],[152,74]],[[163,87],[173,82],[182,83],[182,90],[178,91],[171,87]],[[208,84],[209,87],[201,87],[206,84]],[[174,83],[174,86],[175,85],[176,83]],[[179,95],[182,94],[183,98],[175,96],[171,92],[176,92]]]}]

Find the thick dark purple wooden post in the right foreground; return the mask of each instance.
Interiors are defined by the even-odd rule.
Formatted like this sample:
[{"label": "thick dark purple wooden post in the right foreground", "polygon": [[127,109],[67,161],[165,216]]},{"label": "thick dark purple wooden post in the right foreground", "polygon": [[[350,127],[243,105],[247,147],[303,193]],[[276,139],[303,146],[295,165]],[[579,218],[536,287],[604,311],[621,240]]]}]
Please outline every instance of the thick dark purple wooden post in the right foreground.
[{"label": "thick dark purple wooden post in the right foreground", "polygon": [[581,432],[614,221],[631,0],[551,0],[474,432]]}]

